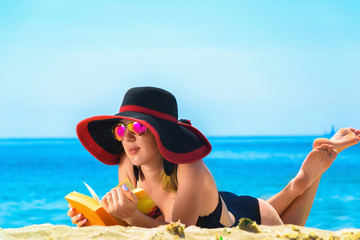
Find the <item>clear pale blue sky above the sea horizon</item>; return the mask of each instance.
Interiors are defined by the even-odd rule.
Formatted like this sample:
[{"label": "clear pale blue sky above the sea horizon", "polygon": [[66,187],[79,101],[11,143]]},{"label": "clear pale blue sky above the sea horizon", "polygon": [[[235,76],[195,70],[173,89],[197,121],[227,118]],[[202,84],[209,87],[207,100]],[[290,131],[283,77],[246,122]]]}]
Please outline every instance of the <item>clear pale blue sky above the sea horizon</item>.
[{"label": "clear pale blue sky above the sea horizon", "polygon": [[0,138],[74,137],[144,85],[208,136],[360,128],[359,1],[0,3]]}]

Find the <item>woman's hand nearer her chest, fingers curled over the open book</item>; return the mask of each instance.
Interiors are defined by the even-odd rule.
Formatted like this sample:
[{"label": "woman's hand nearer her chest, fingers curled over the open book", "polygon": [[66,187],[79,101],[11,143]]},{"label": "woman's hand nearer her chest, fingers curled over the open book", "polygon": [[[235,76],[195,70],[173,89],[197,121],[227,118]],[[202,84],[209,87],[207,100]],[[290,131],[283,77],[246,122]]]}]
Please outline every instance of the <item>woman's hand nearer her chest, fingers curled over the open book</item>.
[{"label": "woman's hand nearer her chest, fingers curled over the open book", "polygon": [[122,188],[114,188],[108,192],[101,200],[101,204],[111,215],[131,225],[131,219],[139,213],[136,208],[137,201],[134,193],[123,185]]}]

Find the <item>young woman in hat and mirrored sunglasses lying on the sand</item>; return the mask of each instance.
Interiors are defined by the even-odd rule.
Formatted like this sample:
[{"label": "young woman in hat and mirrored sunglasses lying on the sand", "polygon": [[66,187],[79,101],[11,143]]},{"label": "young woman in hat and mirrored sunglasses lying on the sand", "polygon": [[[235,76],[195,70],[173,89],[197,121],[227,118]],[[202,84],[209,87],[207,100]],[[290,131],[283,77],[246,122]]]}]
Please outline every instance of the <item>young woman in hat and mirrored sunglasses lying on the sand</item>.
[{"label": "young woman in hat and mirrored sunglasses lying on the sand", "polygon": [[[190,121],[178,121],[176,99],[163,89],[130,89],[118,114],[87,118],[78,124],[77,134],[98,160],[119,165],[119,181],[129,178],[157,204],[162,214],[151,218],[137,210],[137,199],[125,186],[104,196],[102,205],[109,213],[139,227],[172,221],[229,227],[242,217],[264,225],[305,225],[321,175],[337,153],[360,140],[360,130],[353,128],[315,140],[295,178],[264,201],[218,191],[202,160],[211,151],[209,141]],[[71,206],[68,215],[77,226],[86,224]]]}]

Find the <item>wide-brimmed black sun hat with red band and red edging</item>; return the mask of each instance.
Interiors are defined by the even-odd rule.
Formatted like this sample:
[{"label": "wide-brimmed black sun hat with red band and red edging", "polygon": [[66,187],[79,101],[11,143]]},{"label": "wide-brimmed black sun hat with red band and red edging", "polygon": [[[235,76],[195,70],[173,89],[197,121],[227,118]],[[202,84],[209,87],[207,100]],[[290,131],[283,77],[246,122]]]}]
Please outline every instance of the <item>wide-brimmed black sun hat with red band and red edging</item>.
[{"label": "wide-brimmed black sun hat with red band and red edging", "polygon": [[136,87],[126,92],[119,113],[90,117],[76,127],[83,146],[105,164],[118,164],[123,152],[121,142],[112,133],[113,126],[121,119],[138,121],[147,127],[161,155],[172,163],[195,162],[211,151],[211,144],[199,130],[190,122],[178,120],[177,102],[170,92]]}]

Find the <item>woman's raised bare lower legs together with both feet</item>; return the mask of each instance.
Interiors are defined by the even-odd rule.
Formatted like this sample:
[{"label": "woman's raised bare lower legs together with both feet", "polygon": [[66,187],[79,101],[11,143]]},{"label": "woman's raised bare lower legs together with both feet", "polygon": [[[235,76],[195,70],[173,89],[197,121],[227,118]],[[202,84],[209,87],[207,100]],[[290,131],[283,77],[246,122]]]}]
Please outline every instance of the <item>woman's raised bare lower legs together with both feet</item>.
[{"label": "woman's raised bare lower legs together with both feet", "polygon": [[[314,150],[310,152],[297,176],[280,193],[268,200],[284,223],[305,225],[322,173],[331,165],[333,161],[331,159],[336,158],[336,152],[341,152],[345,148],[359,143],[359,141],[360,130],[354,128],[343,128],[335,133],[331,139],[319,138],[314,141],[313,146],[316,151],[324,143],[332,146],[335,151],[324,145],[323,149],[329,153],[329,157],[314,154]],[[320,158],[317,160],[319,156]],[[327,166],[328,163],[330,163],[329,166]],[[311,169],[313,170],[311,171]],[[316,178],[317,175],[319,177]]]}]

